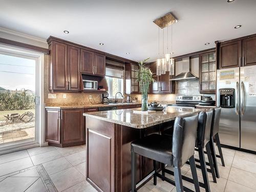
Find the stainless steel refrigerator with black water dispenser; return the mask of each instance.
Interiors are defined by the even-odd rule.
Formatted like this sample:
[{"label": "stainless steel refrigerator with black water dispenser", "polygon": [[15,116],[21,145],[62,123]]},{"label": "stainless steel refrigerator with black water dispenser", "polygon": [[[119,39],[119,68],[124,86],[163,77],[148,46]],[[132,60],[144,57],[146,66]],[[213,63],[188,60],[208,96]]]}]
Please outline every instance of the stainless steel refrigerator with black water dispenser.
[{"label": "stainless steel refrigerator with black water dispenser", "polygon": [[256,66],[217,71],[222,144],[256,151]]}]

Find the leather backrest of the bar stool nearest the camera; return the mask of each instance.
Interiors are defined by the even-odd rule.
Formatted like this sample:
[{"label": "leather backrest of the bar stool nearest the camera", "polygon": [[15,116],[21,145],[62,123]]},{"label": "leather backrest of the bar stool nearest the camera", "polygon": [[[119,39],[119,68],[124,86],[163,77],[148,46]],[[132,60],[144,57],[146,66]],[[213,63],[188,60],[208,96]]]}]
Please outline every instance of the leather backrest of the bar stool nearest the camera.
[{"label": "leather backrest of the bar stool nearest the camera", "polygon": [[173,166],[182,167],[195,153],[198,113],[176,117],[173,133]]}]

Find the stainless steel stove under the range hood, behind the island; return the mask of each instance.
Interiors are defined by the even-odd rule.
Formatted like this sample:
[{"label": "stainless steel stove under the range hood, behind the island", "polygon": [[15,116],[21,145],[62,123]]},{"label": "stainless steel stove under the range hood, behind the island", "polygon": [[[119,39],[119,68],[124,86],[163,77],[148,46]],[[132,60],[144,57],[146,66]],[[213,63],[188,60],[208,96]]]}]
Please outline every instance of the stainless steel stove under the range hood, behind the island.
[{"label": "stainless steel stove under the range hood, behind the island", "polygon": [[176,104],[168,104],[168,106],[184,106],[186,108],[196,108],[196,105],[199,104],[201,99],[201,95],[177,95]]}]

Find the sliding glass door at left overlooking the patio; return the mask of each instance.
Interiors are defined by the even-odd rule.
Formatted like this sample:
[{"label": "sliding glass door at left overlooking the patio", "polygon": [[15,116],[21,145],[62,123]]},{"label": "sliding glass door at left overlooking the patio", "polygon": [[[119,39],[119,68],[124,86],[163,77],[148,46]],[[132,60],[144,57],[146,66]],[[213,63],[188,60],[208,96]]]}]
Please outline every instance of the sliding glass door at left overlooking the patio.
[{"label": "sliding glass door at left overlooking the patio", "polygon": [[37,142],[38,58],[0,52],[0,151]]}]

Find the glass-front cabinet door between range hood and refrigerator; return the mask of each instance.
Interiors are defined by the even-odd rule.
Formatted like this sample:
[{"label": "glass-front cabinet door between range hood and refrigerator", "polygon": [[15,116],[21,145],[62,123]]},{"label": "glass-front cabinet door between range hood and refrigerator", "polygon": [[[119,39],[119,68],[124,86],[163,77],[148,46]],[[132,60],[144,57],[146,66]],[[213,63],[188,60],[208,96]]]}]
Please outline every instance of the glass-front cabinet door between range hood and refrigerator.
[{"label": "glass-front cabinet door between range hood and refrigerator", "polygon": [[216,92],[216,52],[199,56],[200,93]]}]

